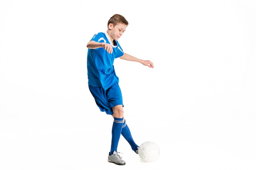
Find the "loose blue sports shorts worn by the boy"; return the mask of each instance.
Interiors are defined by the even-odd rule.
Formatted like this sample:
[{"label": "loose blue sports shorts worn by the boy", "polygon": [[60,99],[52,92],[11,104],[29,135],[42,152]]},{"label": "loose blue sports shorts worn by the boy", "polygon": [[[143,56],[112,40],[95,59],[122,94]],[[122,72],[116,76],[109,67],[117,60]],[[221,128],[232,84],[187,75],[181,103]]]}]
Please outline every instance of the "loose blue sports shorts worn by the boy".
[{"label": "loose blue sports shorts worn by the boy", "polygon": [[123,97],[119,84],[115,84],[104,90],[102,87],[94,87],[89,85],[90,92],[95,99],[95,102],[102,112],[108,115],[113,115],[112,107],[123,104]]}]

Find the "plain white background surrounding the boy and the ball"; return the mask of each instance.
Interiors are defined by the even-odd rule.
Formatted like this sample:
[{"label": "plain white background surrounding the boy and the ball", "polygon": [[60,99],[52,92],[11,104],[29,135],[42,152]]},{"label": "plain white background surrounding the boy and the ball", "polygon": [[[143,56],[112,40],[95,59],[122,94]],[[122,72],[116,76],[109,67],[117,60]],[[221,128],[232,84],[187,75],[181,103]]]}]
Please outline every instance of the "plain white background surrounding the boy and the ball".
[{"label": "plain white background surrounding the boy and the ball", "polygon": [[[0,2],[1,170],[255,170],[256,1]],[[87,42],[115,13],[130,23],[114,63],[139,160],[107,162],[112,117],[87,84]]]}]

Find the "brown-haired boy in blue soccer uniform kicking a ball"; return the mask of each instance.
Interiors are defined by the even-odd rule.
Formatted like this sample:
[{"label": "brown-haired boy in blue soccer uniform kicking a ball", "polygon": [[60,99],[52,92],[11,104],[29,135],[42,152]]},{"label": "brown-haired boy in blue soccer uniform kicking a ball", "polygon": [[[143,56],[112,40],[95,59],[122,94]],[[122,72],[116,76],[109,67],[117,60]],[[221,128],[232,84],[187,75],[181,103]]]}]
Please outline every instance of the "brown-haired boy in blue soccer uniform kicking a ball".
[{"label": "brown-haired boy in blue soccer uniform kicking a ball", "polygon": [[128,141],[134,152],[138,153],[139,146],[132,139],[124,119],[124,104],[118,84],[119,78],[113,66],[114,60],[119,57],[154,68],[149,60],[140,60],[123,52],[117,40],[123,35],[127,26],[128,21],[122,15],[115,14],[108,21],[106,33],[95,34],[87,44],[88,85],[100,110],[114,118],[108,161],[117,165],[125,165],[125,161],[117,152],[121,135]]}]

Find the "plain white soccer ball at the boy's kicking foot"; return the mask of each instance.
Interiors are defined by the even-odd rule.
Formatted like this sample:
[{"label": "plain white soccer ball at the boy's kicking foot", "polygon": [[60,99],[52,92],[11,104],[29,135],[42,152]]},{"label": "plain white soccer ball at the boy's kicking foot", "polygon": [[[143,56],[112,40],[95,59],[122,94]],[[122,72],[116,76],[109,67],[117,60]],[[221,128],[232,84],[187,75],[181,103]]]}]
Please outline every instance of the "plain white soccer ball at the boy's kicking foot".
[{"label": "plain white soccer ball at the boy's kicking foot", "polygon": [[139,157],[144,162],[153,162],[159,157],[159,147],[153,141],[146,141],[138,150]]}]

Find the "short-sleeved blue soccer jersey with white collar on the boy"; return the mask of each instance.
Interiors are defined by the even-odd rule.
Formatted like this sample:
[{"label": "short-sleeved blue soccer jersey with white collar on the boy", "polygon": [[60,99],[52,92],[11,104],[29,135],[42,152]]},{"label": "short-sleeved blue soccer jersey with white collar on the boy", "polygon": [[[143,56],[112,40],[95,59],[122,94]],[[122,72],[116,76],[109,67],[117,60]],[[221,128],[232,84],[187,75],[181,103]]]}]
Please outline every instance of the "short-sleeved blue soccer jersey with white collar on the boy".
[{"label": "short-sleeved blue soccer jersey with white collar on the boy", "polygon": [[119,82],[113,64],[115,58],[123,56],[124,52],[117,41],[114,40],[114,44],[110,42],[108,33],[97,33],[91,41],[105,42],[113,47],[112,54],[104,48],[88,49],[87,54],[88,84],[106,90]]}]

